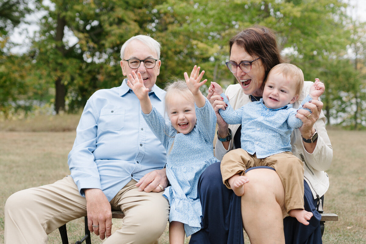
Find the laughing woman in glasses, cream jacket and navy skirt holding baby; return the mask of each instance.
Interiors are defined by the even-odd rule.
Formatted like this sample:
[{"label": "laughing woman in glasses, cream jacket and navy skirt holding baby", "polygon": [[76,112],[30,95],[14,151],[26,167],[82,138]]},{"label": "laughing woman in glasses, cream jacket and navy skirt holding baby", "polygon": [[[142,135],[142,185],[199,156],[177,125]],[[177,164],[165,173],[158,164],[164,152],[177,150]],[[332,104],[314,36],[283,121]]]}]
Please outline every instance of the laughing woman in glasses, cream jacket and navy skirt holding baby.
[{"label": "laughing woman in glasses, cream jacket and navy skirt holding baby", "polygon": [[[272,30],[255,26],[236,34],[229,42],[230,60],[226,63],[238,84],[227,87],[225,94],[234,109],[247,102],[259,101],[263,95],[264,81],[269,70],[284,60],[280,56],[276,36]],[[298,108],[304,100],[312,82],[304,82],[299,100],[293,104]],[[215,111],[225,108],[220,95],[209,89],[209,100]],[[246,173],[249,183],[244,184],[245,194],[236,196],[223,185],[220,163],[210,165],[202,173],[198,191],[202,203],[202,229],[193,234],[191,244],[200,243],[244,243],[243,229],[252,244],[307,243],[321,241],[320,197],[329,187],[328,169],[332,162],[332,146],[325,129],[323,104],[318,100],[307,102],[299,110],[303,125],[291,135],[292,153],[304,164],[305,210],[313,217],[305,226],[295,218],[282,219],[284,211],[284,189],[279,176],[272,168],[252,168]],[[228,126],[217,113],[218,140],[215,155],[221,159],[229,150],[240,147],[241,125]],[[241,213],[241,214],[240,214]]]}]

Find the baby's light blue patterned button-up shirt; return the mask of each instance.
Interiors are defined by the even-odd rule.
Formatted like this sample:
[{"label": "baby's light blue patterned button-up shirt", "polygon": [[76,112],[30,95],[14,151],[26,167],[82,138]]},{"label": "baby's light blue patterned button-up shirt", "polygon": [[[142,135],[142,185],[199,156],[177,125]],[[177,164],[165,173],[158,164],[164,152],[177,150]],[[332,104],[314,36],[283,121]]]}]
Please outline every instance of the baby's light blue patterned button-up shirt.
[{"label": "baby's light blue patterned button-up shirt", "polygon": [[[219,110],[221,117],[228,124],[242,124],[242,149],[251,155],[255,153],[257,158],[291,151],[291,133],[293,129],[302,125],[302,121],[295,117],[297,112],[292,108],[292,104],[270,109],[264,105],[261,98],[260,101],[249,102],[234,111],[226,95],[223,93],[221,97],[228,104],[225,110]],[[299,108],[304,109],[302,105],[310,100],[308,95]]]}]

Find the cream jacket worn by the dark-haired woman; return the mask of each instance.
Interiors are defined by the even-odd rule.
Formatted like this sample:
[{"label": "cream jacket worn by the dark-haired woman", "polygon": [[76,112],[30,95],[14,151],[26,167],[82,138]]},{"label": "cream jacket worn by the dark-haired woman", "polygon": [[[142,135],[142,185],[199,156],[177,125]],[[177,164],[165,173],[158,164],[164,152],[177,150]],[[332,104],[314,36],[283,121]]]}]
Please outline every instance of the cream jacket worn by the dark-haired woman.
[{"label": "cream jacket worn by the dark-haired woman", "polygon": [[[301,102],[309,94],[310,86],[313,82],[305,81],[304,87],[300,94],[298,101],[293,104],[294,108],[298,108]],[[225,91],[229,98],[229,102],[234,109],[239,109],[244,104],[250,102],[249,96],[243,93],[239,84],[229,85]],[[232,138],[239,127],[239,124],[229,125],[232,132]],[[308,153],[305,150],[299,129],[294,129],[291,134],[292,153],[300,158],[304,164],[304,179],[313,192],[314,199],[325,194],[329,187],[328,174],[324,171],[329,169],[333,158],[333,149],[330,144],[328,133],[325,129],[325,116],[323,111],[320,113],[319,119],[315,122],[314,128],[318,132],[317,145],[313,153]],[[229,150],[235,149],[233,140],[230,141],[229,149],[226,150],[223,144],[217,140],[215,145],[215,156],[219,160]]]}]

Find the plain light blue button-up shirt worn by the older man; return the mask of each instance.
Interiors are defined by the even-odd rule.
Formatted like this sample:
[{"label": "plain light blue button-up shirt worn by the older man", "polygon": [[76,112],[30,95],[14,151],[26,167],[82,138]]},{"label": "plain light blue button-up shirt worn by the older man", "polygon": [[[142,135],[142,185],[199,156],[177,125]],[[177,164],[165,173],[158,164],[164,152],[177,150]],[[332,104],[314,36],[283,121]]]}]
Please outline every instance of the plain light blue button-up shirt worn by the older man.
[{"label": "plain light blue button-up shirt worn by the older man", "polygon": [[[147,126],[126,82],[96,91],[81,115],[68,165],[82,196],[83,189],[98,188],[110,201],[131,179],[138,181],[165,165],[165,148]],[[164,114],[165,91],[154,85],[149,97]]]}]

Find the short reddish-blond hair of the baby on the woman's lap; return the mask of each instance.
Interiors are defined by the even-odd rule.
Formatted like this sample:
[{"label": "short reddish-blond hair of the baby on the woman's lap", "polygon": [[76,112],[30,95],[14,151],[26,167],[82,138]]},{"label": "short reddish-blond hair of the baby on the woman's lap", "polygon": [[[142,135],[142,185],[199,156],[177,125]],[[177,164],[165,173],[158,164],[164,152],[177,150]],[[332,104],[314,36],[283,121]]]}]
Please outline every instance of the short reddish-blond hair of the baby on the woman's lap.
[{"label": "short reddish-blond hair of the baby on the woman's lap", "polygon": [[284,77],[290,78],[291,81],[293,81],[296,85],[295,95],[300,95],[300,92],[304,86],[304,74],[299,67],[288,63],[277,64],[269,71],[268,76],[271,73],[280,73]]}]

